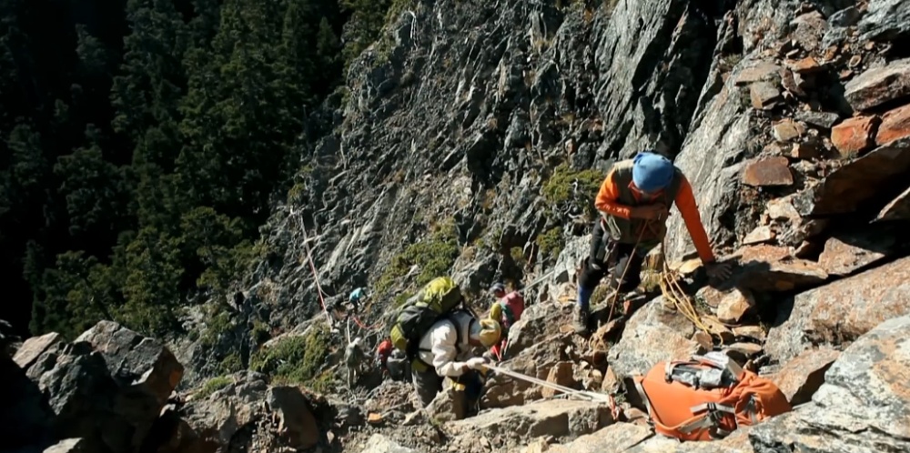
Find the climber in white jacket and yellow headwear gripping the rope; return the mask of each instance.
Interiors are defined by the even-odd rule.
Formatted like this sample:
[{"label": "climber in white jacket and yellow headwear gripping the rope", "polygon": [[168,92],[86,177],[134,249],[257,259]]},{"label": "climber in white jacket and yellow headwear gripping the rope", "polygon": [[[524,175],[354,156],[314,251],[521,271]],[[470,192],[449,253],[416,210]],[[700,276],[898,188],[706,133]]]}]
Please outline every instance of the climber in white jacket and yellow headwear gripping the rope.
[{"label": "climber in white jacket and yellow headwear gripping the rope", "polygon": [[423,406],[436,398],[445,377],[453,380],[471,369],[480,370],[483,357],[472,357],[472,347],[490,347],[500,340],[500,324],[491,319],[477,319],[466,312],[456,312],[436,321],[420,338],[420,353],[411,367],[414,389]]}]

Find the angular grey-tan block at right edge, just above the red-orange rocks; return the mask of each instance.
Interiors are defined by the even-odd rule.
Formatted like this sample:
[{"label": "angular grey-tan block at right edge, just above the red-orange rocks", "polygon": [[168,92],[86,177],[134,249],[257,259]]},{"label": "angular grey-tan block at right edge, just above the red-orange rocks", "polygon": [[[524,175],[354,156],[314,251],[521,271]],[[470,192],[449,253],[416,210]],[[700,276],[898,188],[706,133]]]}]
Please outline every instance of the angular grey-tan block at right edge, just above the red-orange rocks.
[{"label": "angular grey-tan block at right edge, just above the red-orange rocks", "polygon": [[844,97],[858,111],[905,96],[910,96],[910,58],[867,69],[844,87]]}]

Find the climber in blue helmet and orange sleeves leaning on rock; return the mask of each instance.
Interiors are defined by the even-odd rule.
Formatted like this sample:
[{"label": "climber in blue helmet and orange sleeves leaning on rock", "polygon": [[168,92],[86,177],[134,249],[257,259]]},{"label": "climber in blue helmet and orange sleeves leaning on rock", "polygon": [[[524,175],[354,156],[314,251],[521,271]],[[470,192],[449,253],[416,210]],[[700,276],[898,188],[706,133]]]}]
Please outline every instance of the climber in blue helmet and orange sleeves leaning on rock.
[{"label": "climber in blue helmet and orange sleeves leaning on rock", "polygon": [[692,186],[670,159],[651,151],[613,164],[603,180],[594,206],[591,250],[581,268],[573,327],[588,331],[591,293],[612,267],[612,288],[629,292],[641,284],[642,263],[666,236],[670,206],[679,208],[709,277],[726,278],[728,267],[716,265],[708,235],[695,205]]}]

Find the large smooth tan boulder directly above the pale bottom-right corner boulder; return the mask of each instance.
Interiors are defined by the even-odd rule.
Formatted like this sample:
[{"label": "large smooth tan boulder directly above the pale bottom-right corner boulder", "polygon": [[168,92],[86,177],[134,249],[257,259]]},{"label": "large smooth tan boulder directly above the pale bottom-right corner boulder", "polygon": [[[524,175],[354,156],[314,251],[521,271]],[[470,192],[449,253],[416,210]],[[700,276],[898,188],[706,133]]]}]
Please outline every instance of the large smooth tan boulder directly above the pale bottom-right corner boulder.
[{"label": "large smooth tan boulder directly above the pale bottom-right corner boulder", "polygon": [[783,363],[810,345],[853,341],[907,313],[910,257],[800,293],[784,304],[764,349]]}]

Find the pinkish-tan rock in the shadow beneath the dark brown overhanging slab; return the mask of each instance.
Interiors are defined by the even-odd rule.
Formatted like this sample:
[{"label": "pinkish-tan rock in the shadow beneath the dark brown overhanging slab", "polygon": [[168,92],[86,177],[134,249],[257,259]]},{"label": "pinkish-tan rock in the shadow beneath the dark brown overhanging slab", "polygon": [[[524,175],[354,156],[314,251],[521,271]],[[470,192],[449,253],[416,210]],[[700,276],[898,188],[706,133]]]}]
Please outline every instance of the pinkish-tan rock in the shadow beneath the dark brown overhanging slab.
[{"label": "pinkish-tan rock in the shadow beneath the dark brown overhanging slab", "polygon": [[887,257],[894,245],[895,239],[890,235],[831,237],[824,243],[818,264],[828,274],[844,276]]}]

